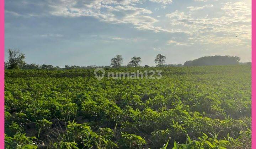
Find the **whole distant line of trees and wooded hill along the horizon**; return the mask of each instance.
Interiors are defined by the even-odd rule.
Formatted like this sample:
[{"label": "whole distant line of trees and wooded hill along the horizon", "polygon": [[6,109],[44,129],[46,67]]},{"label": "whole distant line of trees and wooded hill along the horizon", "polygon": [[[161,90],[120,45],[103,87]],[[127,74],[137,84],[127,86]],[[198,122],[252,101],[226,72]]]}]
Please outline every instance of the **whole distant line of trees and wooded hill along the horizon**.
[{"label": "whole distant line of trees and wooded hill along the horizon", "polygon": [[[37,65],[27,64],[25,62],[25,55],[18,50],[8,49],[9,60],[5,63],[5,69],[43,69],[43,70],[70,70],[70,69],[90,69],[90,68],[118,68],[118,67],[150,67],[148,65],[140,66],[142,59],[140,57],[132,57],[128,65],[121,65],[123,58],[121,55],[116,55],[111,59],[111,66],[69,66],[65,65],[64,68],[53,65]],[[192,61],[186,61],[182,64],[165,64],[166,56],[158,54],[155,58],[156,67],[183,67],[183,66],[212,66],[212,65],[251,65],[251,62],[239,62],[241,59],[237,56],[204,56]]]}]

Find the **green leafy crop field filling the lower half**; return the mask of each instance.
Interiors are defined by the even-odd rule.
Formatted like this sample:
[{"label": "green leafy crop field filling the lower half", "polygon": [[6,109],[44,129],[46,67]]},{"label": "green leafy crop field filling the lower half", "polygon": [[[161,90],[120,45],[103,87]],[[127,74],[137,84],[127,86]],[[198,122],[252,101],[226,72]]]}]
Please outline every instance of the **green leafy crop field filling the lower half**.
[{"label": "green leafy crop field filling the lower half", "polygon": [[250,148],[251,66],[137,69],[6,70],[6,148]]}]

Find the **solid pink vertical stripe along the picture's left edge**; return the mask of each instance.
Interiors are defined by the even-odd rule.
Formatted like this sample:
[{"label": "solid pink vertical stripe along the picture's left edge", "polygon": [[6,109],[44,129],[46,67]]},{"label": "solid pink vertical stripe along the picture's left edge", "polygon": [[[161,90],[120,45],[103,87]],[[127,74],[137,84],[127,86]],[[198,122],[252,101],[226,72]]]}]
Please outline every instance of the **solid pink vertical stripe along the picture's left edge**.
[{"label": "solid pink vertical stripe along the picture's left edge", "polygon": [[4,149],[4,0],[0,0],[0,149]]}]

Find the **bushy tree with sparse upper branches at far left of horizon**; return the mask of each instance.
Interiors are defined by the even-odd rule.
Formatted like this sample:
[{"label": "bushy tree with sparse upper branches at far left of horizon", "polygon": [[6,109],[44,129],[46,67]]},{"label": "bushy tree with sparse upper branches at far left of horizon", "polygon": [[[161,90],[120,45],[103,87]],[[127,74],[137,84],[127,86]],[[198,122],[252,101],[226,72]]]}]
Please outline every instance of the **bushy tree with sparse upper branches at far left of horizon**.
[{"label": "bushy tree with sparse upper branches at far left of horizon", "polygon": [[8,53],[7,69],[18,69],[20,65],[25,64],[25,55],[20,53],[19,50],[8,49]]}]

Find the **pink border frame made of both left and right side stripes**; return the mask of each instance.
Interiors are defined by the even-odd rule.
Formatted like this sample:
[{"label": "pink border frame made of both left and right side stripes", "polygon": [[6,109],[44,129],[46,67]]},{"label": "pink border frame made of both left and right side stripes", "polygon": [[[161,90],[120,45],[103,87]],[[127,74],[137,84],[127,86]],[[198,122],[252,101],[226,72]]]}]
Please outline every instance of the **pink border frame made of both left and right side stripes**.
[{"label": "pink border frame made of both left and right side stripes", "polygon": [[[0,0],[0,149],[4,149],[4,0]],[[256,0],[252,0],[252,149],[256,149]]]}]

